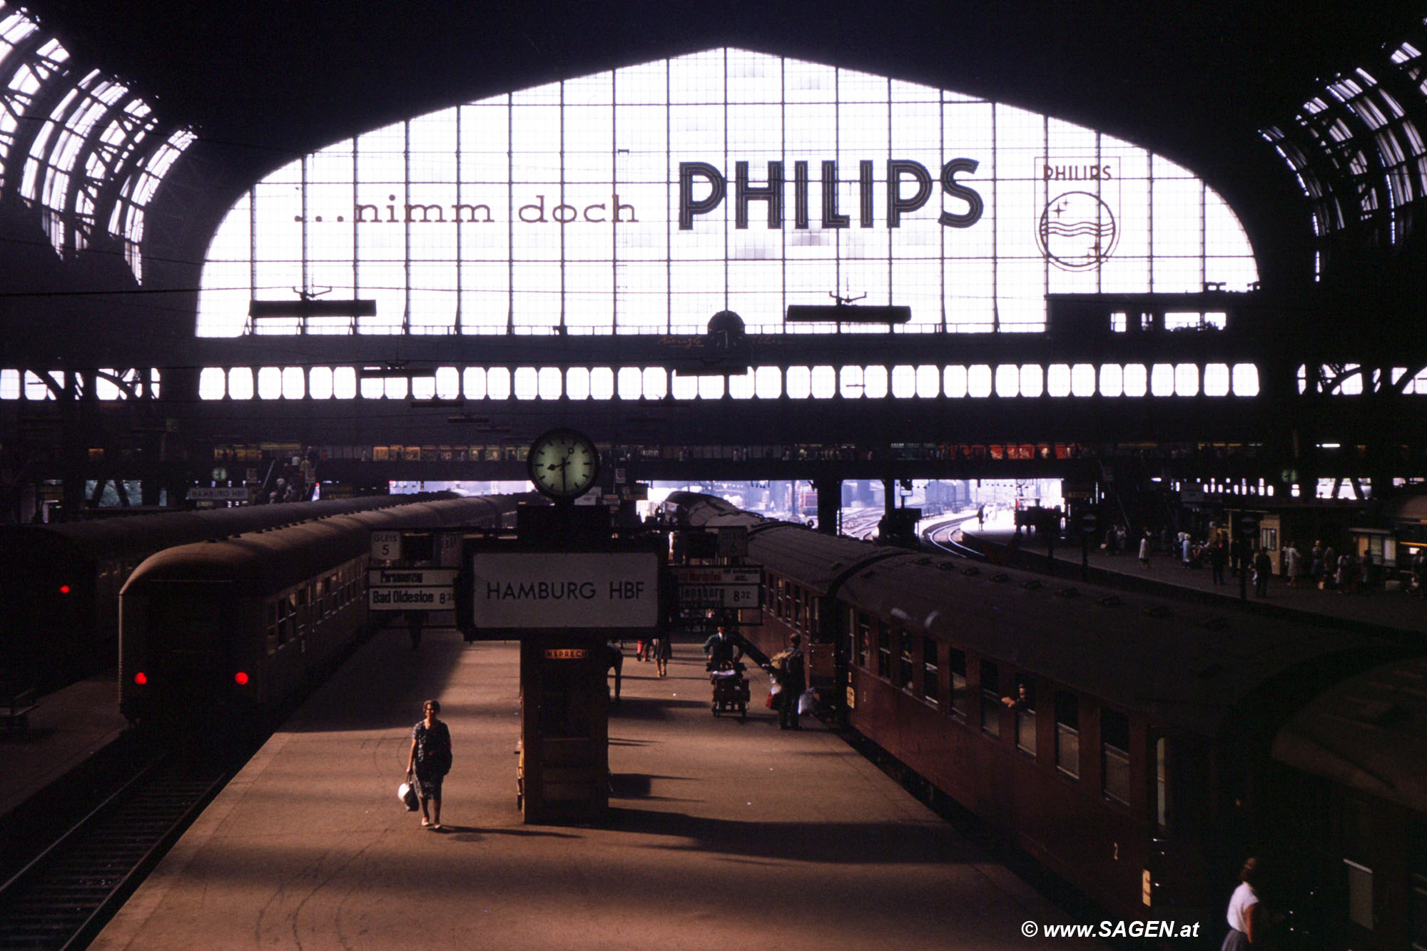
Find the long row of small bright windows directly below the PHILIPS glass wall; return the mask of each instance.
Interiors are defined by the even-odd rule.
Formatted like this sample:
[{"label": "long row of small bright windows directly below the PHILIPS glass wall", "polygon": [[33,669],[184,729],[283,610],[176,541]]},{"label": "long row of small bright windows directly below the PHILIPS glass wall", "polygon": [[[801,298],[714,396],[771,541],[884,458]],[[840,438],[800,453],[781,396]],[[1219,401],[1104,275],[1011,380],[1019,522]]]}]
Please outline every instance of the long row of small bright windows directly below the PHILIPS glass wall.
[{"label": "long row of small bright windows directly below the PHILIPS glass wall", "polygon": [[1257,396],[1253,364],[973,364],[755,367],[729,377],[664,367],[440,367],[432,377],[360,376],[352,367],[205,368],[204,400],[873,400],[932,397]]}]

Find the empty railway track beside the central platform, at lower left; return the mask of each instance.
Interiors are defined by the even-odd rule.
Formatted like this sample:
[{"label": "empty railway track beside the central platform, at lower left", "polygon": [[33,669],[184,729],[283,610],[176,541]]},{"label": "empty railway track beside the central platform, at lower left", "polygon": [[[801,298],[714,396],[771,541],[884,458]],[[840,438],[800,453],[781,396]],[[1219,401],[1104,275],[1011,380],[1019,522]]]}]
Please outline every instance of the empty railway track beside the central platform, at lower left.
[{"label": "empty railway track beside the central platform, at lower left", "polygon": [[0,885],[0,950],[83,948],[231,775],[167,753]]}]

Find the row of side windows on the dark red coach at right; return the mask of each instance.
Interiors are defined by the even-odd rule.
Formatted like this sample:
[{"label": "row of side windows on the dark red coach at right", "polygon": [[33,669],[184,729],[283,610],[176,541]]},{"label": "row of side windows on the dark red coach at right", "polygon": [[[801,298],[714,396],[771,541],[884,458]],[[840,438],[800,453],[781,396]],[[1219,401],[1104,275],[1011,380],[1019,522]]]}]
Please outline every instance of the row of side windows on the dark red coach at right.
[{"label": "row of side windows on the dark red coach at right", "polygon": [[[771,580],[771,588],[783,584],[781,580]],[[816,604],[816,598],[812,603]],[[973,660],[973,655],[962,648],[943,645],[932,637],[916,637],[855,608],[848,610],[848,617],[845,653],[855,667],[889,681],[930,707],[945,708],[952,720],[976,728],[992,740],[999,740],[1002,730],[1009,725],[1015,730],[1016,750],[1030,758],[1037,757],[1040,725],[1049,727],[1050,723],[1040,724],[1037,715],[1036,678],[1023,674],[1006,677],[1007,671],[996,661]],[[975,671],[975,680],[970,678],[969,670]],[[1049,693],[1053,694],[1055,727],[1052,761],[1060,775],[1079,781],[1082,778],[1080,697],[1060,688]],[[1007,711],[1009,717],[1005,715]],[[1104,705],[1097,711],[1102,794],[1109,801],[1130,805],[1133,788],[1129,717]],[[1163,741],[1156,747],[1156,755],[1159,758],[1157,821],[1159,825],[1164,825]]]}]

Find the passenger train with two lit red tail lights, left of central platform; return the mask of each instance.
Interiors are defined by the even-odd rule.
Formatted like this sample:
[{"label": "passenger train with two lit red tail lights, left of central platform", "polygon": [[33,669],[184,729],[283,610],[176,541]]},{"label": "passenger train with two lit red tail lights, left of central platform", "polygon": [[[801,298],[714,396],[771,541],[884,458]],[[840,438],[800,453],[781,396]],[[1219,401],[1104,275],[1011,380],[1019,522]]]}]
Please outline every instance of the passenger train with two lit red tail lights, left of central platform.
[{"label": "passenger train with two lit red tail lights, left of central platform", "polygon": [[334,515],[166,548],[120,593],[120,710],[134,723],[251,721],[368,628],[375,530],[514,525],[519,497]]}]

